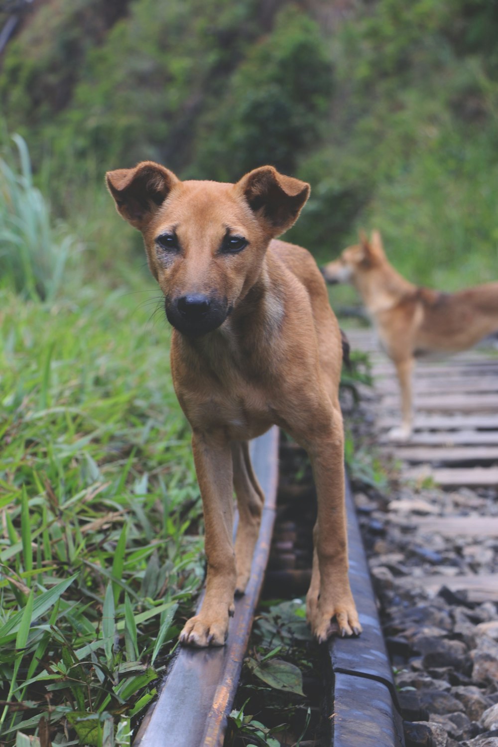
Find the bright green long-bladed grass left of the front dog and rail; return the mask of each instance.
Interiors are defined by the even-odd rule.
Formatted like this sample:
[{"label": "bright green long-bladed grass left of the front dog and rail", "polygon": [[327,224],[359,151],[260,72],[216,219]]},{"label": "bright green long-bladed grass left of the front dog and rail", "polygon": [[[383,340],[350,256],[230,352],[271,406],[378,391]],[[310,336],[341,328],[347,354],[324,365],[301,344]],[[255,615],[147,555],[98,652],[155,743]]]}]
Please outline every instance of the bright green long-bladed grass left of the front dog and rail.
[{"label": "bright green long-bladed grass left of the front dog and rail", "polygon": [[52,306],[1,294],[5,746],[16,734],[129,744],[202,581],[166,326],[137,303],[102,289]]}]

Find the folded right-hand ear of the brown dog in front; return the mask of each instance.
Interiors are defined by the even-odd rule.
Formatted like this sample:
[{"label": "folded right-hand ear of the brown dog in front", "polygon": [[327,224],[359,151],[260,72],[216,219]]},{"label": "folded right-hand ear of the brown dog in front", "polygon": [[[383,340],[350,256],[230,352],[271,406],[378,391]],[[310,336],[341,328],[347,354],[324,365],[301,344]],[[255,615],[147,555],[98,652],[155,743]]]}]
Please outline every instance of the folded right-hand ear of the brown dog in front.
[{"label": "folded right-hand ear of the brown dog in front", "polygon": [[249,171],[237,182],[249,207],[278,236],[296,223],[310,193],[310,185],[279,174],[273,166]]}]

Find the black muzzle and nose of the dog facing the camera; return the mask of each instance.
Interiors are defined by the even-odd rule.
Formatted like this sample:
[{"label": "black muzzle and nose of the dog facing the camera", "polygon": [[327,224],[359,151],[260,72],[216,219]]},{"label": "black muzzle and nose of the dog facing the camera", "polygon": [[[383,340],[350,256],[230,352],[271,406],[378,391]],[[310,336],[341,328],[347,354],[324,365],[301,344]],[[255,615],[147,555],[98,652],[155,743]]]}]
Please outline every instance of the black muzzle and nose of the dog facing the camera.
[{"label": "black muzzle and nose of the dog facing the camera", "polygon": [[201,337],[221,326],[228,314],[226,299],[204,294],[187,294],[164,303],[166,317],[178,332],[187,337]]}]

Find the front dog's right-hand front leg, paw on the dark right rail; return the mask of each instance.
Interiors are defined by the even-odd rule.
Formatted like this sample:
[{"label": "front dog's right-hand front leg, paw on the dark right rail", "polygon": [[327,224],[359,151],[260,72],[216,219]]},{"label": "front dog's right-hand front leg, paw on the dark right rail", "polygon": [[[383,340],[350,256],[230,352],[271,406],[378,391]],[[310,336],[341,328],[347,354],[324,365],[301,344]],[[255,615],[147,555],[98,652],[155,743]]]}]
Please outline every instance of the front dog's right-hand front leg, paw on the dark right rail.
[{"label": "front dog's right-hand front leg, paw on the dark right rail", "polygon": [[309,454],[317,487],[318,515],[314,527],[314,562],[306,599],[308,621],[319,642],[334,630],[341,635],[361,632],[348,577],[346,506],[344,503],[343,430],[334,409],[334,427],[315,441]]}]

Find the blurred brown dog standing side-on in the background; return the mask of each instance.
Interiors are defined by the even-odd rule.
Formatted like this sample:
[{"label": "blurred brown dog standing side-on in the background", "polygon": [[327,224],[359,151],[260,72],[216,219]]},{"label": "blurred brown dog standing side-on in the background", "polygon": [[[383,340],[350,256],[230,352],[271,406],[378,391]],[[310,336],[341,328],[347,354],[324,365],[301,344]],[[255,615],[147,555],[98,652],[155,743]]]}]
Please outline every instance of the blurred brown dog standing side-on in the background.
[{"label": "blurred brown dog standing side-on in the background", "polygon": [[327,282],[352,282],[373,319],[383,350],[396,366],[401,390],[402,423],[390,438],[411,436],[411,373],[417,357],[467,350],[498,329],[498,283],[458,293],[417,288],[389,264],[379,231],[370,241],[344,249],[323,267]]}]

